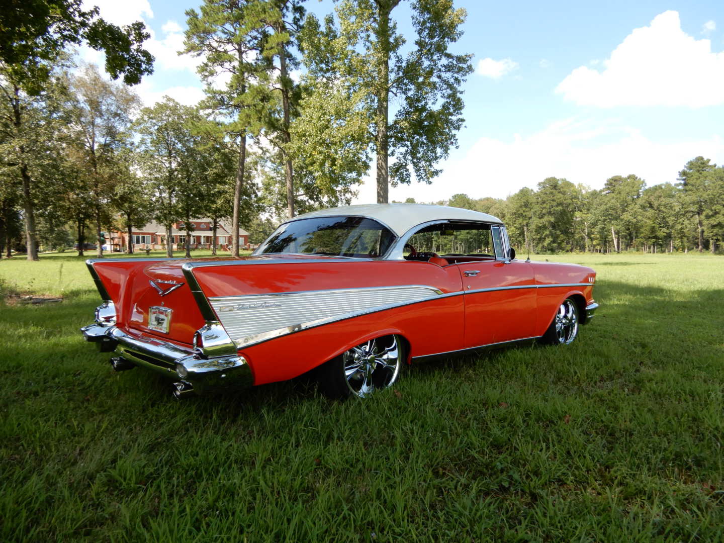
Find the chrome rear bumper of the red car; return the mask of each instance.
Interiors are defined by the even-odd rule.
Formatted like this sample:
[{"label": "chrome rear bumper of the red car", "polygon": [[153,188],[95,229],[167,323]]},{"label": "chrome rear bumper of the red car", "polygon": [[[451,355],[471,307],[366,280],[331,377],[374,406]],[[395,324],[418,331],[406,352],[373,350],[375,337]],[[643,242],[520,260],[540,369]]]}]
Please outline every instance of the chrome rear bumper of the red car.
[{"label": "chrome rear bumper of the red car", "polygon": [[198,350],[125,332],[115,326],[88,324],[80,331],[86,341],[95,342],[101,351],[113,350],[136,366],[188,383],[197,394],[253,384],[249,364],[237,354],[205,357]]}]

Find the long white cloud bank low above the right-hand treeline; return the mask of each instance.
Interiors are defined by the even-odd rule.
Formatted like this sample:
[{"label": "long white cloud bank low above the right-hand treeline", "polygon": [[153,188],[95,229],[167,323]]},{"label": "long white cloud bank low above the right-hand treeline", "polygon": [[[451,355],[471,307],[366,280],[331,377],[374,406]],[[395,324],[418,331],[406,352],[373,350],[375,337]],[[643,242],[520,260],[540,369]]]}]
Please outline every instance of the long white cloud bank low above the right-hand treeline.
[{"label": "long white cloud bank low above the right-hand treeline", "polygon": [[[523,187],[536,188],[546,177],[602,188],[613,175],[636,174],[647,185],[676,182],[678,171],[695,156],[724,161],[724,138],[659,143],[641,130],[615,119],[601,125],[567,119],[532,135],[512,140],[480,138],[461,159],[442,164],[432,185],[414,183],[390,188],[390,200],[433,202],[466,193],[472,198],[506,198]],[[515,167],[510,167],[515,164]],[[374,180],[360,189],[354,203],[372,203]]]}]

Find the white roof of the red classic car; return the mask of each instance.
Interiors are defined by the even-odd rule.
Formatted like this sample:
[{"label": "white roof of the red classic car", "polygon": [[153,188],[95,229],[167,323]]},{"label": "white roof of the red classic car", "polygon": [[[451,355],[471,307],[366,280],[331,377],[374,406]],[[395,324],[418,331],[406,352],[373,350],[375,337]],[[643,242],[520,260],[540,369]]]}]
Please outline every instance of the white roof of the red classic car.
[{"label": "white roof of the red classic car", "polygon": [[445,219],[502,224],[500,219],[487,213],[459,207],[430,206],[425,203],[369,203],[359,206],[332,207],[298,215],[287,222],[322,216],[368,217],[382,222],[397,236],[403,235],[418,224]]}]

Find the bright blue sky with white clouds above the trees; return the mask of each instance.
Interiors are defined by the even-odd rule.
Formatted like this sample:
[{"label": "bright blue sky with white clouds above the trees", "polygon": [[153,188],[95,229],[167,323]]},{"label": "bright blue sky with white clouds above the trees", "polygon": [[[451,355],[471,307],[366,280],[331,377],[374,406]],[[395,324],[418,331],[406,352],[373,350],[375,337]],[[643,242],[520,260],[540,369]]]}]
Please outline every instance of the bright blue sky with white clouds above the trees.
[{"label": "bright blue sky with white clouds above the trees", "polygon": [[[116,24],[143,20],[154,73],[135,90],[144,104],[168,95],[203,98],[198,60],[179,56],[185,11],[200,0],[84,0]],[[309,0],[319,17],[329,0]],[[724,2],[488,2],[466,9],[452,52],[473,54],[463,87],[459,147],[432,185],[390,189],[390,200],[432,202],[466,193],[506,198],[546,177],[601,188],[636,174],[648,186],[676,182],[695,156],[724,164]],[[414,40],[409,1],[392,12]],[[80,56],[102,66],[89,49]],[[370,170],[374,172],[374,168]],[[369,177],[353,203],[374,203]]]}]

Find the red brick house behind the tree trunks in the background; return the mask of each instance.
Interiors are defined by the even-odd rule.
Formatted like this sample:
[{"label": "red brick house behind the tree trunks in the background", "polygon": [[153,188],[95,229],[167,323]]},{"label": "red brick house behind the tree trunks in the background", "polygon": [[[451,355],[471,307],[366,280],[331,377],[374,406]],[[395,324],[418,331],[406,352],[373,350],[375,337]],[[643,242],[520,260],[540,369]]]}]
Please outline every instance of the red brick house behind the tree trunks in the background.
[{"label": "red brick house behind the tree trunks in the background", "polygon": [[[191,248],[210,249],[214,237],[212,227],[214,222],[211,219],[193,219]],[[219,222],[216,227],[216,248],[226,250],[231,247],[231,227],[228,224]],[[166,227],[158,222],[149,222],[140,228],[131,230],[133,236],[133,247],[138,249],[165,249],[166,248]],[[127,247],[128,232],[111,232],[110,243],[112,251],[125,251]],[[182,251],[186,242],[186,229],[183,222],[176,222],[171,227],[171,237],[174,250]],[[239,229],[239,246],[248,248],[249,232],[243,228]]]}]

